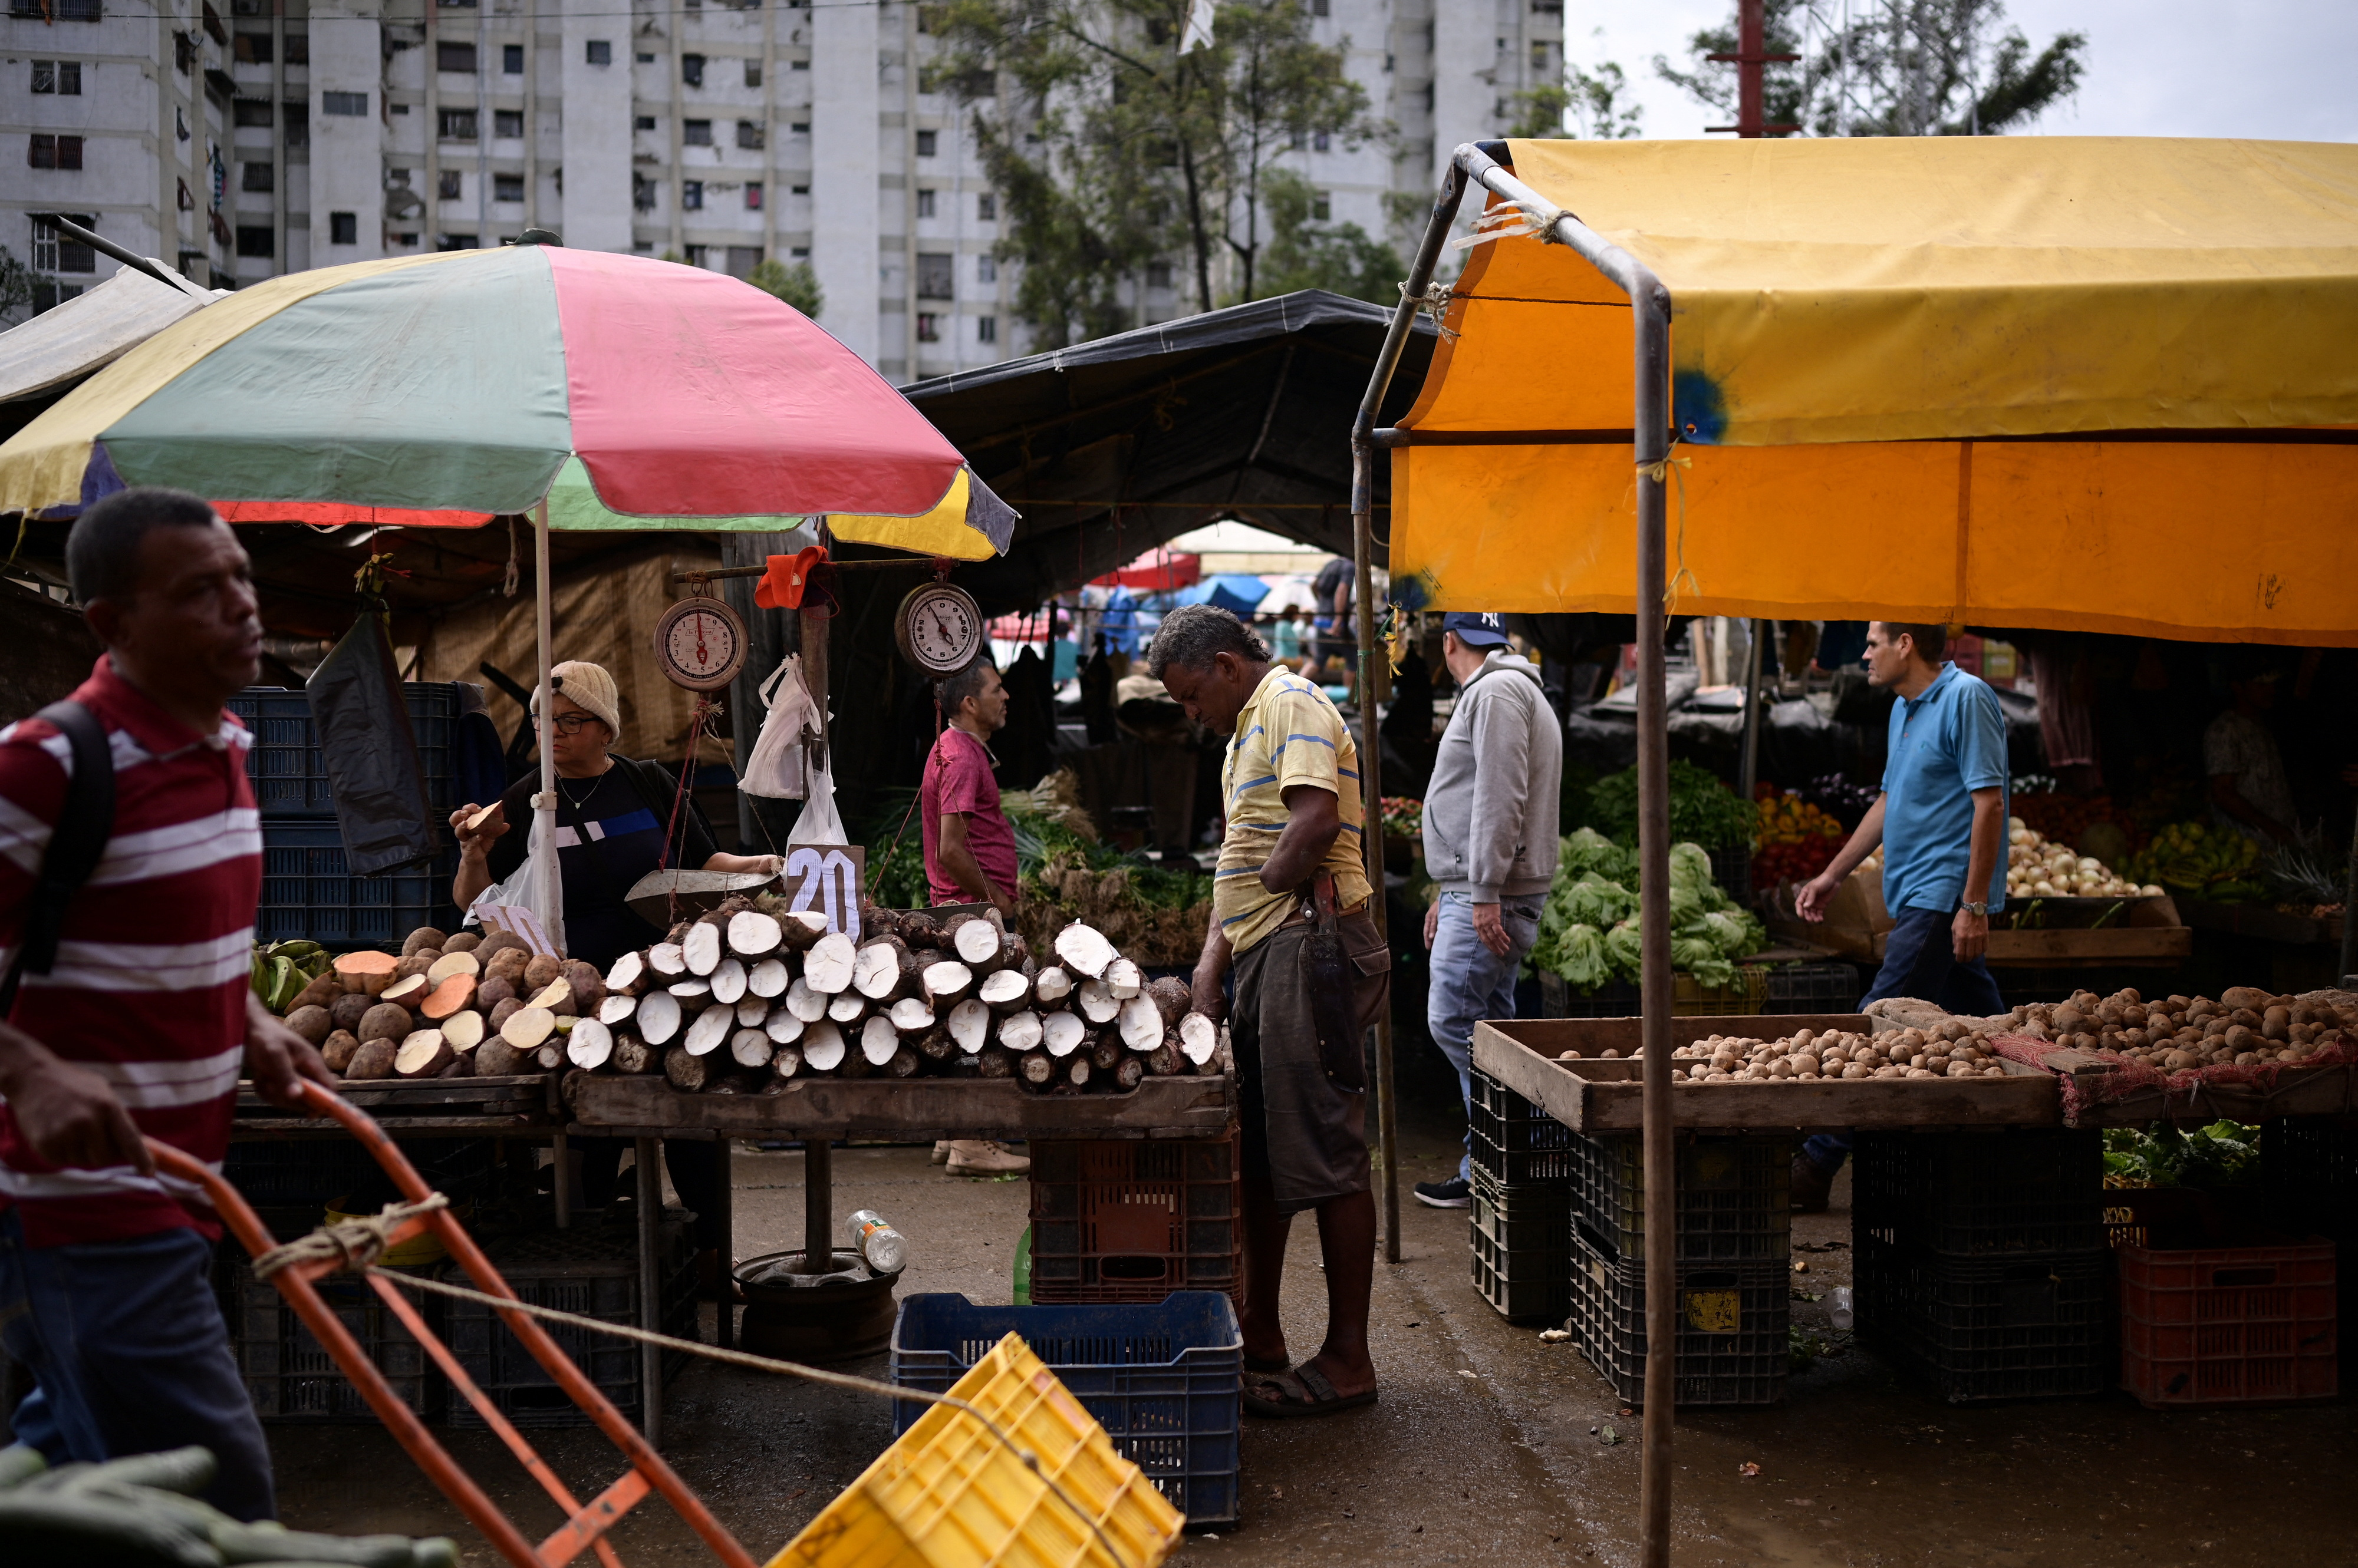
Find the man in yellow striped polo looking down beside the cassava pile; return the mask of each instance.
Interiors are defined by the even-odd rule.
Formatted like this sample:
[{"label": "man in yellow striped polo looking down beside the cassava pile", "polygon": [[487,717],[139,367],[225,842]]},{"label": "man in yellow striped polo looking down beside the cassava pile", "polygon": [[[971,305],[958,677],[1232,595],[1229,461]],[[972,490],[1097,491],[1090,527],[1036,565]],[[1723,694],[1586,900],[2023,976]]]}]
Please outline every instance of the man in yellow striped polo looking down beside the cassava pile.
[{"label": "man in yellow striped polo looking down beside the cassava pile", "polygon": [[[1146,667],[1191,719],[1231,736],[1226,835],[1193,990],[1200,1012],[1231,1021],[1243,1108],[1245,1408],[1335,1415],[1375,1403],[1363,1040],[1391,990],[1361,863],[1358,747],[1325,691],[1273,665],[1229,611],[1172,611]],[[1231,967],[1233,1009],[1221,993]],[[1318,1214],[1328,1332],[1287,1370],[1278,1285],[1285,1233],[1304,1210]]]}]

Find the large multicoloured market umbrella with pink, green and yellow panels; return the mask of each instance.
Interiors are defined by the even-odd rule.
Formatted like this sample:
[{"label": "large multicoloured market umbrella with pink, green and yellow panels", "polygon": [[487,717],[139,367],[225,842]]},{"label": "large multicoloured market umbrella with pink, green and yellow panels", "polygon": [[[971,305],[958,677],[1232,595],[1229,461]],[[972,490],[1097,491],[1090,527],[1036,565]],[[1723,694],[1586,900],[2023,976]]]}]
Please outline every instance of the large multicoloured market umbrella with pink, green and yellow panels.
[{"label": "large multicoloured market umbrella with pink, green and yellow panels", "polygon": [[1014,514],[757,288],[509,245],[290,274],[156,332],[0,446],[0,512],[132,483],[231,521],[780,531],[988,559]]}]

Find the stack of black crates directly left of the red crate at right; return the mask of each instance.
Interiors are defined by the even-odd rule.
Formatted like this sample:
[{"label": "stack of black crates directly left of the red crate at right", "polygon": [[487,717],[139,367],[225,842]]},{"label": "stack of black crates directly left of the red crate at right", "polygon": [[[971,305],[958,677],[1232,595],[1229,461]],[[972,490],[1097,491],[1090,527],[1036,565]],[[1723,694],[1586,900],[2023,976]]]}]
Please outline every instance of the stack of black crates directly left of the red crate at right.
[{"label": "stack of black crates directly left of the red crate at right", "polygon": [[1945,1401],[2110,1386],[2103,1134],[1860,1132],[1858,1337]]}]

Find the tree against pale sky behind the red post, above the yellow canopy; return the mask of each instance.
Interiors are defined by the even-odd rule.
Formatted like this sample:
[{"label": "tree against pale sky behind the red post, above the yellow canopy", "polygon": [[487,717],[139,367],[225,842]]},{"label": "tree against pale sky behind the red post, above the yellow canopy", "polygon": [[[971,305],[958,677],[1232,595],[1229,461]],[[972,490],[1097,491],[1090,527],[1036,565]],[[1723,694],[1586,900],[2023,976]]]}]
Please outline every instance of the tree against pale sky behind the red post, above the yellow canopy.
[{"label": "tree against pale sky behind the red post, above the yellow canopy", "polygon": [[[1988,137],[2023,130],[2080,90],[2087,35],[2056,33],[2033,52],[2007,28],[2004,0],[1879,0],[1849,28],[1806,28],[1806,0],[1766,0],[1761,111],[1816,137]],[[1804,35],[1809,33],[1809,35]],[[1813,45],[1804,50],[1804,45]],[[1662,80],[1735,113],[1735,21],[1688,40],[1688,68],[1655,57]]]}]

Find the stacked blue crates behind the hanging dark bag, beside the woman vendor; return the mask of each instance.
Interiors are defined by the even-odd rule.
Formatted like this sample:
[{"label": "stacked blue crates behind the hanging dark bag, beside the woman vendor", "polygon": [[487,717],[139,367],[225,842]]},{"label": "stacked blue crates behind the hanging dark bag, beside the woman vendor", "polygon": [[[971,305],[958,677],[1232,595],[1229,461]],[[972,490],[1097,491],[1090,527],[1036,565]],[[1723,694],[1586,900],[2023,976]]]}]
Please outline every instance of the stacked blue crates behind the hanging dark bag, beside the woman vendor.
[{"label": "stacked blue crates behind the hanging dark bag, beside the woman vendor", "polygon": [[[427,804],[441,823],[465,804],[457,799],[460,689],[455,681],[408,681],[401,693],[417,736]],[[394,948],[422,924],[448,929],[457,920],[450,905],[453,844],[422,865],[377,877],[351,875],[309,696],[248,686],[229,698],[229,712],[255,736],[245,771],[262,809],[257,941],[304,936],[337,950]]]}]

